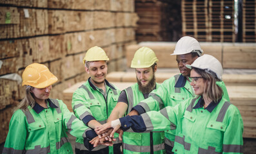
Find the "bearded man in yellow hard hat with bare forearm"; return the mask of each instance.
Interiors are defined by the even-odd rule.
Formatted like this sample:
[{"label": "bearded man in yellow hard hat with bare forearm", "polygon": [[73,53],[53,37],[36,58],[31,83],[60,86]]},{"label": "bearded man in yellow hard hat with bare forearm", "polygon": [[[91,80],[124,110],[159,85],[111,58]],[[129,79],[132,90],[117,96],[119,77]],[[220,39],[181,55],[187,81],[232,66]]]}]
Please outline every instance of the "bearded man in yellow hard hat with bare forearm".
[{"label": "bearded man in yellow hard hat with bare forearm", "polygon": [[[137,83],[121,92],[108,121],[126,116],[137,103],[148,98],[150,92],[159,87],[159,84],[155,82],[157,62],[157,56],[149,47],[140,47],[135,52],[131,67],[135,69]],[[164,131],[124,132],[123,153],[165,153]]]}]

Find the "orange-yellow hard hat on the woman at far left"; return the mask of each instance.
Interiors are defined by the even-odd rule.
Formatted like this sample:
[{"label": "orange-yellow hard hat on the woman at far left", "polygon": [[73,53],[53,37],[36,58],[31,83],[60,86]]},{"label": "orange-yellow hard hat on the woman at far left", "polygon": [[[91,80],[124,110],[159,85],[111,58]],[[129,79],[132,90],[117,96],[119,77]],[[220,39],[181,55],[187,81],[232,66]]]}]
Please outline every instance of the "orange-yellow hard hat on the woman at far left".
[{"label": "orange-yellow hard hat on the woman at far left", "polygon": [[30,64],[22,74],[22,85],[43,89],[54,84],[58,79],[50,72],[48,67],[43,64]]}]

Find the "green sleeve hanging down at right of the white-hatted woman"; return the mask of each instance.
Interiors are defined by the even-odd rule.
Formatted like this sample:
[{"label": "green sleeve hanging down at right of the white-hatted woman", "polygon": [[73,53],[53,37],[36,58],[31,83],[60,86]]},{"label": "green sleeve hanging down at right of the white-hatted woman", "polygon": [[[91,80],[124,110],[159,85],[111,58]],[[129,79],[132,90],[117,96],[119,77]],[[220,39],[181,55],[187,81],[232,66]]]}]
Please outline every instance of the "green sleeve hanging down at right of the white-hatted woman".
[{"label": "green sleeve hanging down at right of the white-hatted woman", "polygon": [[242,153],[242,132],[244,125],[241,114],[237,107],[233,105],[231,105],[227,114],[229,116],[229,124],[224,132],[223,153]]}]

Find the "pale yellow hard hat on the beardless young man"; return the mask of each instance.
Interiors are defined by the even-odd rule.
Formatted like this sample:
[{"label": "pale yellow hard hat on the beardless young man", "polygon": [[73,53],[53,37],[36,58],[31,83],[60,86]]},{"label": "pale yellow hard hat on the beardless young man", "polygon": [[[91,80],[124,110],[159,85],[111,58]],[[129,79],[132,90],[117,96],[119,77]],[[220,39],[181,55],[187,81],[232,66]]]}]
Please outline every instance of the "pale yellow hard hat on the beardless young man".
[{"label": "pale yellow hard hat on the beardless young man", "polygon": [[88,51],[84,56],[83,63],[85,64],[85,61],[99,61],[99,60],[109,60],[109,58],[101,47],[95,46],[88,49]]}]

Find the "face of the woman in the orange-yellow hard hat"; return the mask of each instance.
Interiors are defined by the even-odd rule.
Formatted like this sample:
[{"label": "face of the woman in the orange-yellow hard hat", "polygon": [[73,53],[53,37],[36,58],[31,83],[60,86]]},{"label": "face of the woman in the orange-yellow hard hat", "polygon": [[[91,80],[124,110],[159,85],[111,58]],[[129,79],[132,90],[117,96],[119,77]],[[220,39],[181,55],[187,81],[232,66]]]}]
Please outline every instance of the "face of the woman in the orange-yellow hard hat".
[{"label": "face of the woman in the orange-yellow hard hat", "polygon": [[52,85],[45,87],[44,89],[34,88],[31,90],[31,92],[34,94],[35,101],[38,103],[40,101],[48,99],[50,97],[51,90],[52,90]]}]

